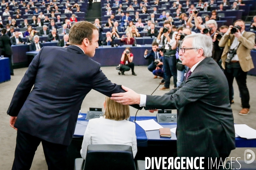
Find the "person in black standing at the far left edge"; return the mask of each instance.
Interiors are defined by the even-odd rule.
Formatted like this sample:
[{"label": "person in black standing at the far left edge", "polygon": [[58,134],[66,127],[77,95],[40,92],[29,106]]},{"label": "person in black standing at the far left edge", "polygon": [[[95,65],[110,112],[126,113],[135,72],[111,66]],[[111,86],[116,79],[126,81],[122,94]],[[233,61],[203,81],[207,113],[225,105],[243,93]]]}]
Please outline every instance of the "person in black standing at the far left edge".
[{"label": "person in black standing at the far left edge", "polygon": [[3,28],[1,33],[2,36],[0,37],[0,48],[1,48],[1,55],[4,57],[9,58],[9,63],[10,63],[10,72],[11,75],[13,74],[13,67],[12,67],[12,48],[11,48],[11,39],[8,35],[6,35],[6,28]]}]

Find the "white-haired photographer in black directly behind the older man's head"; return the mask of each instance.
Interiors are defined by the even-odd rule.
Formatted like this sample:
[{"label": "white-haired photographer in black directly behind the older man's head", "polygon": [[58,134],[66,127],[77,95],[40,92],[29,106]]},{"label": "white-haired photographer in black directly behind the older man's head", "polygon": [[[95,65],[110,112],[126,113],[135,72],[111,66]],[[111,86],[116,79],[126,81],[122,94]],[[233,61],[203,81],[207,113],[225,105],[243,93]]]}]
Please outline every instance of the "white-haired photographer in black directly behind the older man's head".
[{"label": "white-haired photographer in black directly behind the older man's head", "polygon": [[205,25],[206,28],[202,29],[202,33],[212,37],[212,59],[214,59],[215,62],[218,63],[221,59],[221,54],[223,52],[223,48],[220,48],[218,44],[223,34],[217,30],[218,25],[215,20],[209,20],[205,23]]}]

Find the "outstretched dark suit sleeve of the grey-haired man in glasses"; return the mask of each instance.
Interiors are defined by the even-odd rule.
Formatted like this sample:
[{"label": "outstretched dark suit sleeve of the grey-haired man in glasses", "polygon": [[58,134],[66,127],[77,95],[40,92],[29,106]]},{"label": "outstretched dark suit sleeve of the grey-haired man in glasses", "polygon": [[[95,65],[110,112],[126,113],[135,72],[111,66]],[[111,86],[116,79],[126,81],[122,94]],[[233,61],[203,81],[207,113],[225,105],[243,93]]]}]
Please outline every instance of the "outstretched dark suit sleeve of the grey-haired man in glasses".
[{"label": "outstretched dark suit sleeve of the grey-haired man in glasses", "polygon": [[[209,93],[209,78],[205,73],[197,73],[186,81],[175,94],[163,96],[147,95],[145,110],[150,109],[180,109],[190,102],[206,96]],[[171,92],[171,91],[170,91]]]}]

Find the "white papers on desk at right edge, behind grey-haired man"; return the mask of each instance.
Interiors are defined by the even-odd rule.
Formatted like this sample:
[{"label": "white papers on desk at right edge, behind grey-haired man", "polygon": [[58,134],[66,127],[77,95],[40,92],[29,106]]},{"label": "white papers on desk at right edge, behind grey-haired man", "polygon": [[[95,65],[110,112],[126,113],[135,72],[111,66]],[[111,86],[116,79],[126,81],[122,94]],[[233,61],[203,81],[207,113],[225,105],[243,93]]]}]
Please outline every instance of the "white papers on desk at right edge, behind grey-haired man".
[{"label": "white papers on desk at right edge, behind grey-haired man", "polygon": [[256,130],[244,125],[244,124],[235,124],[235,133],[240,136],[241,138],[246,139],[256,139]]}]

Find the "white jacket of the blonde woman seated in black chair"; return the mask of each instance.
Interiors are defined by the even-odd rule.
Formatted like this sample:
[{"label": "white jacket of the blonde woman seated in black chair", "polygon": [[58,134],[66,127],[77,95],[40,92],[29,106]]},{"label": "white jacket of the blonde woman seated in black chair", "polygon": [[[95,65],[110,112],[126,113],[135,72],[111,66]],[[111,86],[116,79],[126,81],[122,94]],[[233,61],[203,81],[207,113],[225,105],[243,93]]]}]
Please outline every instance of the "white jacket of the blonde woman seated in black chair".
[{"label": "white jacket of the blonde woman seated in black chair", "polygon": [[82,149],[83,159],[86,158],[89,144],[125,144],[132,148],[133,156],[137,153],[137,137],[135,123],[127,120],[111,120],[103,117],[90,119],[84,133]]}]

